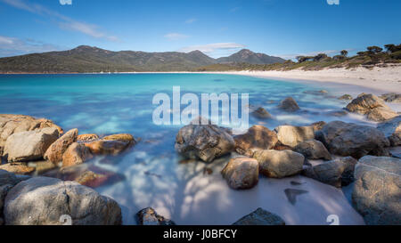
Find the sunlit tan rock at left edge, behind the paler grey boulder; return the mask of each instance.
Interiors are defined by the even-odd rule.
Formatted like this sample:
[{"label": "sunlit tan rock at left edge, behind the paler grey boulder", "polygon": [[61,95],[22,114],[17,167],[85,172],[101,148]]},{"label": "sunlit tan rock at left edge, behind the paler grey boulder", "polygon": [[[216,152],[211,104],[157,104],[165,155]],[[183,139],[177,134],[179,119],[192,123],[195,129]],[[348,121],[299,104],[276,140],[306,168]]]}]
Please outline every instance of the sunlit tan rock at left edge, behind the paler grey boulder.
[{"label": "sunlit tan rock at left edge, behind the paler grey boulder", "polygon": [[60,126],[53,124],[51,120],[34,118],[22,115],[0,114],[0,156],[3,155],[4,144],[12,134],[40,130],[45,127],[55,127],[62,134]]}]

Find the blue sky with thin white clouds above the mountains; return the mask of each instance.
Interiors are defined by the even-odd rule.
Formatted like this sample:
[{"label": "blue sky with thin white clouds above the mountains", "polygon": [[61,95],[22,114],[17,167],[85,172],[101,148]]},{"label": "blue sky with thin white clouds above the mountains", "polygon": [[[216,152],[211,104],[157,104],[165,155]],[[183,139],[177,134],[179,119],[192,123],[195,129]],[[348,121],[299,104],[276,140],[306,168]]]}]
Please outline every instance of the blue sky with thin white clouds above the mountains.
[{"label": "blue sky with thin white clouds above the mountains", "polygon": [[243,48],[285,59],[352,54],[400,44],[400,9],[399,0],[0,0],[0,57],[78,45],[214,58]]}]

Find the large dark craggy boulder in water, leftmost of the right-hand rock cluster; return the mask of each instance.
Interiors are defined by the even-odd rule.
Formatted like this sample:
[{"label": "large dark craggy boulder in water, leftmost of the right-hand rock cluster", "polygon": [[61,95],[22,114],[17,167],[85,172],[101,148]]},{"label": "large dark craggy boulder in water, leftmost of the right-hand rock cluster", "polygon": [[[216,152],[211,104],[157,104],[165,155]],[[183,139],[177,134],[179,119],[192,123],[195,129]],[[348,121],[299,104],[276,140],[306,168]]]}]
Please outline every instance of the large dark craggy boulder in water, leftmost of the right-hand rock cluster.
[{"label": "large dark craggy boulder in water, leftmost of the right-hand rock cluster", "polygon": [[230,153],[235,146],[233,137],[215,125],[188,125],[176,135],[176,151],[186,158],[201,158],[211,162]]}]

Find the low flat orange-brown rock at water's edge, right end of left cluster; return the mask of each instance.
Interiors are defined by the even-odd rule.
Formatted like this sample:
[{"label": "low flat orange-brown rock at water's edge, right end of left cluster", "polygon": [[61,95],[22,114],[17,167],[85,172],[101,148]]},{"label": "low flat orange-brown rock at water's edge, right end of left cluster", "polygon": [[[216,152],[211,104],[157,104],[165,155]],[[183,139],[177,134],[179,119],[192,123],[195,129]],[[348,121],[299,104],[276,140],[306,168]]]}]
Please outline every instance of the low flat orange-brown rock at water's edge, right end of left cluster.
[{"label": "low flat orange-brown rock at water's edge, right end of left cluster", "polygon": [[122,151],[127,150],[130,145],[130,142],[118,140],[98,140],[85,143],[85,146],[89,148],[94,155],[117,155]]}]

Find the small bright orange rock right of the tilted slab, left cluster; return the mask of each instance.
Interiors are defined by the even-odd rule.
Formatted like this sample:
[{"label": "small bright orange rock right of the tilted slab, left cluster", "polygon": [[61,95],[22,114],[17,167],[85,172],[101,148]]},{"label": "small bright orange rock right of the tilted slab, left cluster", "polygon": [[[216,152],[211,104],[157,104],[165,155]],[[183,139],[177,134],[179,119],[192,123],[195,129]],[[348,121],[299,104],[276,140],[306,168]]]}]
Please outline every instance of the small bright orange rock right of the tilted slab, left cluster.
[{"label": "small bright orange rock right of the tilted slab, left cluster", "polygon": [[62,166],[77,166],[93,157],[91,151],[84,144],[74,142],[62,155]]}]

